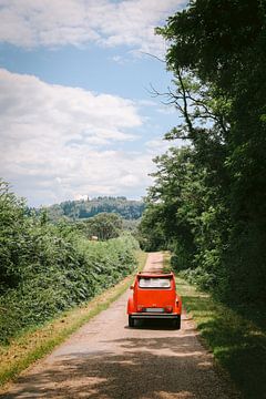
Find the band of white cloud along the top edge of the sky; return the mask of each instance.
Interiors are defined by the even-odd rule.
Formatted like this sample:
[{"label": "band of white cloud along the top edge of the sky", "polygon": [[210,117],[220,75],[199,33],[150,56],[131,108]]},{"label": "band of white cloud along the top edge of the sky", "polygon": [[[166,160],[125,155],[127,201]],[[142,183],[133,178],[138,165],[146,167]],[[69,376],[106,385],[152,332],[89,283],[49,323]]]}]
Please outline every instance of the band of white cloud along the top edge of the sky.
[{"label": "band of white cloud along the top edge of the sky", "polygon": [[158,54],[154,28],[184,0],[0,0],[0,41],[19,47],[125,44]]}]

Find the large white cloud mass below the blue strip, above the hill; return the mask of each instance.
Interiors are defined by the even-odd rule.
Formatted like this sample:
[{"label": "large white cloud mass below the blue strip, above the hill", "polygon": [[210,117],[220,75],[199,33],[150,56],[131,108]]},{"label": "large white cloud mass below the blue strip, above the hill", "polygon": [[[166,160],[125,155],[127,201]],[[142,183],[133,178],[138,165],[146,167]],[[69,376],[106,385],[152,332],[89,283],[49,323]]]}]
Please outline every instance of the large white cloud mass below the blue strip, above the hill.
[{"label": "large white cloud mass below the blue strip, above the hill", "polygon": [[132,101],[0,70],[0,115],[1,175],[31,204],[136,196],[150,184],[149,152],[116,149],[142,125]]}]

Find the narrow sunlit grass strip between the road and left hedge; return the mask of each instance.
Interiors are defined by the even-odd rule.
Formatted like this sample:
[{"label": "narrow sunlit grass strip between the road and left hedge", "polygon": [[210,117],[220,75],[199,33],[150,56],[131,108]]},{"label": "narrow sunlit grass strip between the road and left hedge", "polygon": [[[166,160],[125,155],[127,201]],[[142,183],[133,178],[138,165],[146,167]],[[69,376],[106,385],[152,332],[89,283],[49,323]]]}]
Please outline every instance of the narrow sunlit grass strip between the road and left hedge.
[{"label": "narrow sunlit grass strip between the road and left hedge", "polygon": [[[137,250],[137,269],[142,270],[146,262],[146,253]],[[109,288],[86,304],[64,311],[60,317],[45,323],[38,328],[31,328],[22,336],[11,340],[8,346],[0,346],[0,387],[8,389],[9,383],[35,360],[52,351],[71,334],[88,323],[100,311],[106,309],[116,300],[132,283],[134,274],[125,277],[121,283]]]}]

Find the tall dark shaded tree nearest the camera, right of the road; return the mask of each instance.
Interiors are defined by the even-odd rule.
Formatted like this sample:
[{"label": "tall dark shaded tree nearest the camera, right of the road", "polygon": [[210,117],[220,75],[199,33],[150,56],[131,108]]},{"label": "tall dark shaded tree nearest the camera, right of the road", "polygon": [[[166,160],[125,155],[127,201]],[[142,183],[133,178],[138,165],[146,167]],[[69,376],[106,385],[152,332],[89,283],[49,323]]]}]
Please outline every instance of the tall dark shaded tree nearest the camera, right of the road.
[{"label": "tall dark shaded tree nearest the camera, right of the road", "polygon": [[[175,76],[168,101],[184,121],[167,137],[190,139],[193,163],[205,173],[194,259],[206,269],[209,250],[215,254],[214,284],[238,301],[266,300],[265,17],[262,0],[194,0],[157,29],[170,42],[166,61]],[[190,192],[186,184],[183,198]],[[212,237],[213,249],[206,247]]]}]

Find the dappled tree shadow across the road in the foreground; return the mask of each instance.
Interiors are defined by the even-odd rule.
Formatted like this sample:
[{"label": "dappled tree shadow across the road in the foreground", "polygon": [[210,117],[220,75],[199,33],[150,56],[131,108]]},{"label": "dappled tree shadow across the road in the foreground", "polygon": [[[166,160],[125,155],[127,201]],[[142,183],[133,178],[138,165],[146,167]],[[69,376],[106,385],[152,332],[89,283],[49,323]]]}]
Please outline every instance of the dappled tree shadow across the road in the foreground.
[{"label": "dappled tree shadow across the road in the foreground", "polygon": [[233,398],[190,334],[101,345],[109,350],[71,352],[44,371],[20,377],[17,391],[1,398]]}]

